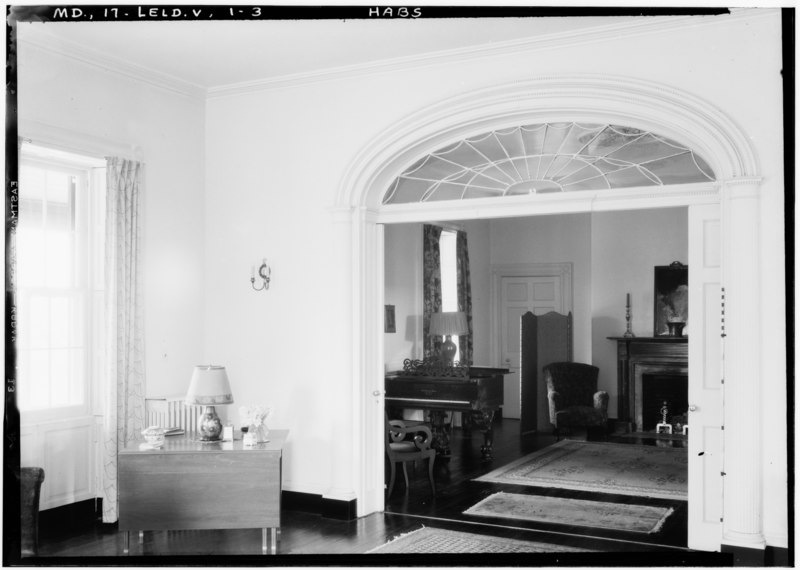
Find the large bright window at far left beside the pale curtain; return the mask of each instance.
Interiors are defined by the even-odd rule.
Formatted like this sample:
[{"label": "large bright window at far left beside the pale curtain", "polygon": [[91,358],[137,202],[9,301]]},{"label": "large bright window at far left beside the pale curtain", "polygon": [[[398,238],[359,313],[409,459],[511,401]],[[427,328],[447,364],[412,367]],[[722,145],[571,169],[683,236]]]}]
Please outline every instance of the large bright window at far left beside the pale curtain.
[{"label": "large bright window at far left beside the pale curtain", "polygon": [[89,412],[102,350],[105,162],[23,145],[16,233],[17,404]]}]

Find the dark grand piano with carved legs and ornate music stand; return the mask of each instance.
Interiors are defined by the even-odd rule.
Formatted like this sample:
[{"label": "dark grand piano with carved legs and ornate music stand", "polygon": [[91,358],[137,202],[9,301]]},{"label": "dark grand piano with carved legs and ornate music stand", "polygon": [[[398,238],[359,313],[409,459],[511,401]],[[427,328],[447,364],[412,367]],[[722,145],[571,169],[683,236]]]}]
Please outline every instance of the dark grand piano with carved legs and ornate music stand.
[{"label": "dark grand piano with carved legs and ornate music stand", "polygon": [[507,368],[406,359],[403,370],[386,375],[386,408],[393,412],[390,416],[402,409],[427,411],[433,447],[445,457],[450,455],[452,412],[466,412],[462,414],[462,427],[477,427],[483,433],[481,453],[485,460],[491,460],[492,420],[503,403],[503,375],[508,373]]}]

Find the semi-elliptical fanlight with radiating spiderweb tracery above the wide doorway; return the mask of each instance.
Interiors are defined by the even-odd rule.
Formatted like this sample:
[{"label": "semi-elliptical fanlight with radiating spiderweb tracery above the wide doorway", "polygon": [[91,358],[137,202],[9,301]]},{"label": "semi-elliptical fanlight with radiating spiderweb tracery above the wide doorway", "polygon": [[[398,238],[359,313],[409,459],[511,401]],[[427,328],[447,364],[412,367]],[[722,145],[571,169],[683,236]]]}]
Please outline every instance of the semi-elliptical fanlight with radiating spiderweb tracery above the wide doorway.
[{"label": "semi-elliptical fanlight with radiating spiderweb tracery above the wide doorway", "polygon": [[713,181],[692,149],[619,125],[544,123],[437,150],[391,184],[384,204],[667,186]]}]

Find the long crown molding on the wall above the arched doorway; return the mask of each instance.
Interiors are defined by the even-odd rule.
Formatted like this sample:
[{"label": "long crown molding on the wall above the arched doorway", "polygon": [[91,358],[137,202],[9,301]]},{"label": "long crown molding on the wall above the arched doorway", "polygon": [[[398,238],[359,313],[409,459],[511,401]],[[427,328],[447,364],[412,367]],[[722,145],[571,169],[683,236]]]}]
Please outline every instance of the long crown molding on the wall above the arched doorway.
[{"label": "long crown molding on the wall above the arched doorway", "polygon": [[768,10],[742,8],[734,9],[730,14],[722,16],[653,16],[641,18],[639,21],[632,23],[610,24],[579,31],[548,34],[535,38],[495,42],[492,44],[442,50],[423,55],[399,57],[365,64],[332,67],[321,71],[310,71],[242,83],[220,85],[210,87],[208,89],[208,97],[227,97],[258,91],[287,89],[327,81],[348,80],[376,73],[393,73],[408,69],[451,65],[460,61],[470,61],[480,58],[507,57],[520,52],[563,49],[608,40],[618,40],[620,38],[684,29],[688,24],[692,26],[712,25],[721,21],[731,22],[733,20],[752,19],[754,16],[766,17],[772,14],[773,12]]}]

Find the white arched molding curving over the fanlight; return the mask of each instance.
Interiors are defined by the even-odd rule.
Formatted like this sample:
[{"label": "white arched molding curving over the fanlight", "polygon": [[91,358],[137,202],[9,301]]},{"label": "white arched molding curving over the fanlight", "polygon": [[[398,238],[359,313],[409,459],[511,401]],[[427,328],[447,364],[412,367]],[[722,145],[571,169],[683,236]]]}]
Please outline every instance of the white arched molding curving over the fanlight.
[{"label": "white arched molding curving over the fanlight", "polygon": [[[623,124],[650,130],[698,152],[714,170],[717,180],[758,177],[758,163],[749,139],[722,111],[691,93],[633,77],[548,76],[446,99],[380,133],[363,147],[345,172],[337,204],[388,211],[388,206],[381,203],[383,195],[392,181],[420,157],[491,130],[563,121]],[[665,190],[666,187],[659,187],[655,192],[661,194]],[[607,192],[605,196],[614,196]],[[543,196],[520,198],[547,204]],[[498,199],[464,202],[482,207],[490,204],[489,200]]]}]

